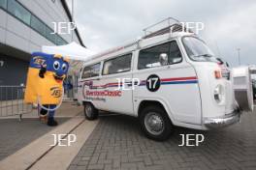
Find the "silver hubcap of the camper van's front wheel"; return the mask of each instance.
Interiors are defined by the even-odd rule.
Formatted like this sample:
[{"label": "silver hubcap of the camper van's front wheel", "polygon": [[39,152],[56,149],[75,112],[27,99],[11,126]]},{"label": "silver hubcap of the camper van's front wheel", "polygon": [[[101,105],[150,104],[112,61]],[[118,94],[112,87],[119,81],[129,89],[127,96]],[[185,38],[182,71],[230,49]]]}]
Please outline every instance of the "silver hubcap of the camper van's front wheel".
[{"label": "silver hubcap of the camper van's front wheel", "polygon": [[164,131],[164,121],[162,117],[155,112],[149,112],[145,115],[144,125],[146,130],[154,135],[159,135]]}]

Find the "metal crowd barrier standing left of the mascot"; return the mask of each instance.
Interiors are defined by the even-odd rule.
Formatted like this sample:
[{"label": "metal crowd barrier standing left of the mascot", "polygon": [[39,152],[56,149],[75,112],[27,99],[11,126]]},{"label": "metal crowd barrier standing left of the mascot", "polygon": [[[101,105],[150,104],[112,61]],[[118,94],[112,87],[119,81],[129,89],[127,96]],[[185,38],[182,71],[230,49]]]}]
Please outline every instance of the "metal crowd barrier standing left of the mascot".
[{"label": "metal crowd barrier standing left of the mascot", "polygon": [[24,86],[0,86],[0,117],[19,116],[32,112],[33,105],[24,102]]}]

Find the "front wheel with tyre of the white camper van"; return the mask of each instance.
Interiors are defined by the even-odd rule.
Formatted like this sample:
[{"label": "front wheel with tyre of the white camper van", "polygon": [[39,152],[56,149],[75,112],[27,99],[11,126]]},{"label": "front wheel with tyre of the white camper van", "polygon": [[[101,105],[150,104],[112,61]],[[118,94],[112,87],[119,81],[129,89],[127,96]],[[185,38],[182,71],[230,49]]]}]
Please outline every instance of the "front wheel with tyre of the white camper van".
[{"label": "front wheel with tyre of the white camper van", "polygon": [[140,115],[141,128],[144,134],[153,140],[163,141],[173,132],[173,124],[166,111],[159,106],[148,106]]}]

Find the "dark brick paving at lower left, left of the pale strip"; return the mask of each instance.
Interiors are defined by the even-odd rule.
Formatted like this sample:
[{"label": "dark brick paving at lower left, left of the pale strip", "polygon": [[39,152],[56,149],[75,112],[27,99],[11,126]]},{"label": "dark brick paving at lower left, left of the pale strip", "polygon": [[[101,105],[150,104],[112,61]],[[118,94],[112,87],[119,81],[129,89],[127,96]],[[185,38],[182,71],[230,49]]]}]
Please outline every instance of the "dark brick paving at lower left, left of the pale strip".
[{"label": "dark brick paving at lower left, left of the pale strip", "polygon": [[[68,120],[58,118],[59,124]],[[17,119],[0,120],[0,160],[10,156],[23,148],[33,140],[46,134],[53,128],[39,122],[38,119]]]}]

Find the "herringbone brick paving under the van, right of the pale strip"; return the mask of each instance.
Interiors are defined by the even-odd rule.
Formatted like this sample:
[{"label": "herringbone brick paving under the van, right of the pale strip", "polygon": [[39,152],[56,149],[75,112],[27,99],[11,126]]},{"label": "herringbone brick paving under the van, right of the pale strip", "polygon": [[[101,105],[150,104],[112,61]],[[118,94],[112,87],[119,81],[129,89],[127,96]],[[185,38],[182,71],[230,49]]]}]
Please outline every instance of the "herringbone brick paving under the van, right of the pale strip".
[{"label": "herringbone brick paving under the van, right of the pale strip", "polygon": [[[176,128],[165,142],[144,137],[136,119],[100,117],[69,169],[256,169],[256,114],[214,131]],[[178,147],[179,134],[203,133],[199,147]]]}]

